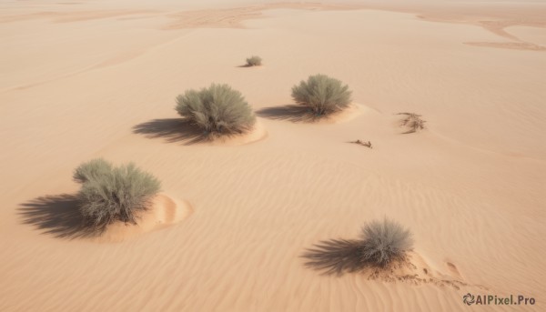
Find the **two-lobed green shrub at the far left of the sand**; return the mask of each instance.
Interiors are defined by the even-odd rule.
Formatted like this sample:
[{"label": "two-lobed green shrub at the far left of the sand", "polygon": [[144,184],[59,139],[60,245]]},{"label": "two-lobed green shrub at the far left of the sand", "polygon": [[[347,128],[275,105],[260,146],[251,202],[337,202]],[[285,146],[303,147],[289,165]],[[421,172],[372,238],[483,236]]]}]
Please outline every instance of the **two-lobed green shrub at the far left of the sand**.
[{"label": "two-lobed green shrub at the far left of the sand", "polygon": [[80,212],[96,228],[116,221],[136,224],[137,213],[147,210],[161,187],[155,176],[133,163],[116,167],[102,158],[78,166],[74,179],[82,185],[77,195]]}]

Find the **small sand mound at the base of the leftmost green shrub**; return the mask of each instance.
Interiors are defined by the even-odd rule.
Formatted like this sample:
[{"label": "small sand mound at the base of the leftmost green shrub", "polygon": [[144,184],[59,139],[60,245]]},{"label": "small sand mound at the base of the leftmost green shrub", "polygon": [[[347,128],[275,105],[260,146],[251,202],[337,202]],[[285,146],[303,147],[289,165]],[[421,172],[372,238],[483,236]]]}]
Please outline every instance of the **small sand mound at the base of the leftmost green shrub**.
[{"label": "small sand mound at the base of the leftmost green shrub", "polygon": [[107,226],[104,233],[92,240],[101,243],[124,241],[175,225],[190,216],[192,212],[192,207],[186,201],[159,194],[152,200],[151,208],[140,216],[137,225],[118,222]]}]

